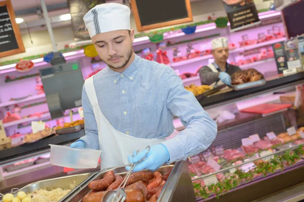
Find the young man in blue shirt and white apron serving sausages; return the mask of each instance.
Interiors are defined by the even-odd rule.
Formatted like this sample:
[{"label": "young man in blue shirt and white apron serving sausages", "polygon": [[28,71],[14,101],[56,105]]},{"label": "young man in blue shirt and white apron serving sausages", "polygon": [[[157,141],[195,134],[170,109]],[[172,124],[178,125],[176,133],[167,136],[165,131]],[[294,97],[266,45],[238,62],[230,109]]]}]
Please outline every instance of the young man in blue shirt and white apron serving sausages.
[{"label": "young man in blue shirt and white apron serving sausages", "polygon": [[[151,146],[134,171],[156,170],[205,150],[217,134],[216,123],[173,69],[134,54],[130,9],[116,3],[98,5],[84,21],[107,67],[85,82],[86,135],[71,147],[102,150],[101,168],[109,168],[137,162]],[[174,130],[173,116],[186,129],[166,140]],[[137,156],[127,158],[137,149]]]}]

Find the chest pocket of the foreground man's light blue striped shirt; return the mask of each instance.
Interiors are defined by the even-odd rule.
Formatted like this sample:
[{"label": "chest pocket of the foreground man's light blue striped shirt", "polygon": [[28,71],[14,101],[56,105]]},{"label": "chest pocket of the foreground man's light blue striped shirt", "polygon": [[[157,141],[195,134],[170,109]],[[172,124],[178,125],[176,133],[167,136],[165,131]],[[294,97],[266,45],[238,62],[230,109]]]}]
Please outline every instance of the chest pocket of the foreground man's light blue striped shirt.
[{"label": "chest pocket of the foreground man's light blue striped shirt", "polygon": [[137,124],[141,132],[156,132],[160,124],[162,102],[136,108]]}]

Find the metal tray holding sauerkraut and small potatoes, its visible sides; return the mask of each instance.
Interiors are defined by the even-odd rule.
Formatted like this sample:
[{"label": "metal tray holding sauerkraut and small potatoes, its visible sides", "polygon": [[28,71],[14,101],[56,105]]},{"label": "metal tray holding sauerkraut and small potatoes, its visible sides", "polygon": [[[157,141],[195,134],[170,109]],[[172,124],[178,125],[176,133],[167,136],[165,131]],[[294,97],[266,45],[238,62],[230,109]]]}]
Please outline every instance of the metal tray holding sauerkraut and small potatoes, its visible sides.
[{"label": "metal tray holding sauerkraut and small potatoes, its visible sides", "polygon": [[[52,190],[56,188],[70,189],[70,183],[74,183],[75,181],[76,187],[63,197],[65,198],[68,195],[72,194],[74,190],[77,190],[84,183],[86,183],[88,180],[93,178],[96,174],[97,172],[85,173],[85,174],[70,175],[65,177],[58,177],[48,180],[37,181],[22,187],[21,189],[19,189],[19,191],[24,191],[25,193],[28,193],[28,192],[34,192],[35,190],[39,190],[39,189],[47,189],[47,190]],[[17,192],[15,192],[14,195],[17,196]],[[59,201],[62,201],[62,199],[60,199]]]}]

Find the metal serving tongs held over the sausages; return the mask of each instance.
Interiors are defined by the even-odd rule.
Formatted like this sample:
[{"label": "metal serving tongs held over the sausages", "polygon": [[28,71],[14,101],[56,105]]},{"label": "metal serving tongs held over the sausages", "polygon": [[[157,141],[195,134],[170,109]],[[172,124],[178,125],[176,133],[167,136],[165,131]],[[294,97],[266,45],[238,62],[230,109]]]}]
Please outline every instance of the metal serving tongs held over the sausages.
[{"label": "metal serving tongs held over the sausages", "polygon": [[[128,179],[129,179],[132,171],[137,166],[137,164],[139,162],[141,162],[142,160],[144,160],[146,158],[146,156],[148,155],[148,153],[150,151],[150,146],[147,146],[145,149],[148,149],[147,153],[138,162],[131,164],[130,171],[127,173],[125,179],[118,186],[118,188],[115,189],[115,190],[107,191],[103,195],[101,202],[124,202],[125,201],[125,199],[127,197],[127,194],[126,194],[126,191],[125,191],[126,183],[127,183]],[[138,155],[138,153],[139,153],[139,150],[137,150],[136,155]],[[132,157],[134,157],[134,155]]]}]

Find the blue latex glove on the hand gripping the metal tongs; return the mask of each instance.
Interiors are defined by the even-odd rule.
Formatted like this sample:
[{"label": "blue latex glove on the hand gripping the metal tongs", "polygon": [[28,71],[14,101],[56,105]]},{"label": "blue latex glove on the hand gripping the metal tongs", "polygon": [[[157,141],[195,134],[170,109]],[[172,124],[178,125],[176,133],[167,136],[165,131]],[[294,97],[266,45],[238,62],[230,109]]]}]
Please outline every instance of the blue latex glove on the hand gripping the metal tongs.
[{"label": "blue latex glove on the hand gripping the metal tongs", "polygon": [[[133,156],[128,156],[129,163],[138,162],[145,154],[147,153],[147,149],[140,151],[138,155],[136,155],[136,151],[133,151]],[[136,156],[135,156],[136,155]],[[157,144],[151,146],[150,151],[146,158],[137,164],[134,168],[133,172],[139,172],[141,170],[150,170],[156,171],[161,166],[163,166],[166,162],[169,161],[169,151],[164,144]],[[126,169],[129,171],[130,166],[127,166]]]}]

